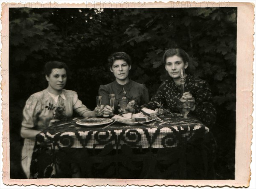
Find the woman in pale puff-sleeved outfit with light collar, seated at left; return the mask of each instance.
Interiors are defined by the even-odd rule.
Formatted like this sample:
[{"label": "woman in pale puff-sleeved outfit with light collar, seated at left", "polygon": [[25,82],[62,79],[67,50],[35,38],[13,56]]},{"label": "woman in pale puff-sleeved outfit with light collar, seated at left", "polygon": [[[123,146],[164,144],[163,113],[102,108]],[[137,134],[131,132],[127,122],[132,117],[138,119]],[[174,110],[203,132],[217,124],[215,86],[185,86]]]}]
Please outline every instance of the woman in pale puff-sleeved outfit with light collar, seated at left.
[{"label": "woman in pale puff-sleeved outfit with light collar, seated at left", "polygon": [[51,61],[45,64],[47,89],[32,94],[23,109],[20,135],[24,138],[21,164],[29,178],[30,163],[35,145],[35,137],[56,120],[72,117],[73,111],[83,117],[103,115],[103,109],[91,111],[78,99],[77,93],[65,90],[67,65]]}]

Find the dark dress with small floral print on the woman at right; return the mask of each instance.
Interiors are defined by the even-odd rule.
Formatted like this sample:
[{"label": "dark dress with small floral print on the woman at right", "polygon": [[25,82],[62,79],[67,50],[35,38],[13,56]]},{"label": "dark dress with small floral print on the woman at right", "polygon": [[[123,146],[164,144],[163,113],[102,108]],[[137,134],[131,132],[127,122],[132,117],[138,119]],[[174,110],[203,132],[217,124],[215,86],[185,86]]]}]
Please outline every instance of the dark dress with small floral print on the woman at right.
[{"label": "dark dress with small floral print on the woman at right", "polygon": [[[190,111],[189,115],[197,117],[207,126],[214,125],[216,110],[212,103],[212,93],[209,84],[205,80],[187,75],[185,92],[190,92],[195,98],[195,110]],[[156,109],[159,104],[163,104],[163,107],[169,109],[170,112],[179,112],[177,109],[177,99],[180,99],[181,96],[181,87],[177,86],[173,79],[165,80],[150,102],[143,106],[148,109]]]}]

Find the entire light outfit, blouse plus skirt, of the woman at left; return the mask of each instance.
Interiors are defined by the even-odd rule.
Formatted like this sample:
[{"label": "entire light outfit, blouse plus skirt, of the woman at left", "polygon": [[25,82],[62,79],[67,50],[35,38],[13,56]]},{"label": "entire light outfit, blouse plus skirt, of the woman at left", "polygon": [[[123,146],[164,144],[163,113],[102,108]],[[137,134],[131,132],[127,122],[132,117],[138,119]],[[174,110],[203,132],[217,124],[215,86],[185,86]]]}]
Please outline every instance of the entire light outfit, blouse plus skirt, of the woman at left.
[{"label": "entire light outfit, blouse plus skirt, of the woman at left", "polygon": [[[63,93],[56,96],[50,94],[47,89],[32,94],[26,101],[23,109],[23,121],[21,127],[24,129],[35,129],[42,131],[49,126],[50,120],[53,119],[54,113],[58,107],[64,107],[64,116],[72,117],[73,111],[83,116],[85,112],[90,111],[81,100],[78,99],[77,93],[70,90],[62,90]],[[59,104],[57,101],[61,98]],[[21,165],[27,178],[30,177],[30,164],[32,160],[35,140],[25,138],[21,155]]]}]

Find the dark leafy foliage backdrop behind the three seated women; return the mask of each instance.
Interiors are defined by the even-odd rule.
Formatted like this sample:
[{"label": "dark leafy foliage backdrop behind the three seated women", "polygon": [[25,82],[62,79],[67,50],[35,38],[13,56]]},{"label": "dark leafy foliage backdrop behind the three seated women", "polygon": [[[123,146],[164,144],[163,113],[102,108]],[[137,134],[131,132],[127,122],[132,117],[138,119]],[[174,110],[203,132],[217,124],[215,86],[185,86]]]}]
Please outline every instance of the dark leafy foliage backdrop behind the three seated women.
[{"label": "dark leafy foliage backdrop behind the three seated women", "polygon": [[69,66],[66,89],[75,90],[89,108],[99,85],[113,76],[113,52],[132,57],[131,79],[145,83],[150,97],[167,77],[163,52],[182,48],[191,56],[189,74],[207,80],[218,120],[218,179],[234,178],[236,129],[236,8],[183,9],[9,9],[9,100],[11,178],[22,178],[20,137],[27,98],[47,87],[44,63]]}]

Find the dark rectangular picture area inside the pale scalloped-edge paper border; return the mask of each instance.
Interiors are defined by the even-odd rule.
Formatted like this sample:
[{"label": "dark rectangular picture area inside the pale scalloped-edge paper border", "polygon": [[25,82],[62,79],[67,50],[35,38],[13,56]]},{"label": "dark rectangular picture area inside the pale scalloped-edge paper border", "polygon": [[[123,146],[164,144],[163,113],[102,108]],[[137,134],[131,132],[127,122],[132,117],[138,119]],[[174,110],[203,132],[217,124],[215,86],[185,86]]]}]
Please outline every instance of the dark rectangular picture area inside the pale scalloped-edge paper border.
[{"label": "dark rectangular picture area inside the pale scalloped-edge paper border", "polygon": [[9,8],[11,179],[236,179],[238,7],[144,3]]}]

